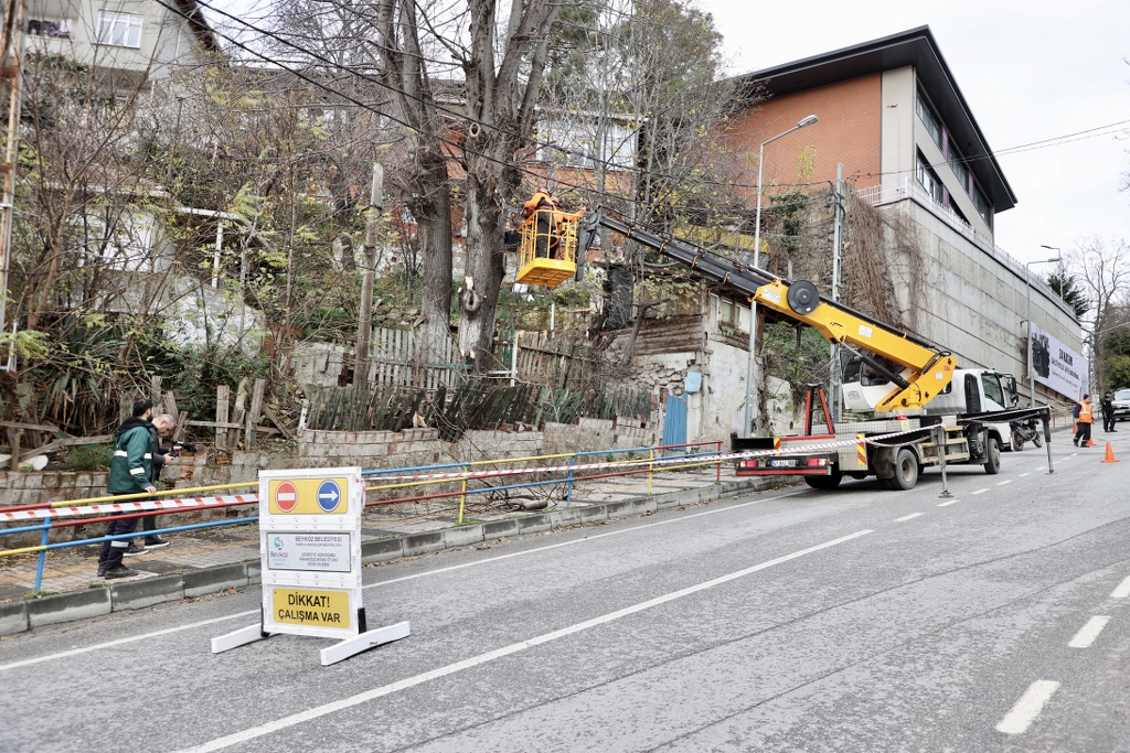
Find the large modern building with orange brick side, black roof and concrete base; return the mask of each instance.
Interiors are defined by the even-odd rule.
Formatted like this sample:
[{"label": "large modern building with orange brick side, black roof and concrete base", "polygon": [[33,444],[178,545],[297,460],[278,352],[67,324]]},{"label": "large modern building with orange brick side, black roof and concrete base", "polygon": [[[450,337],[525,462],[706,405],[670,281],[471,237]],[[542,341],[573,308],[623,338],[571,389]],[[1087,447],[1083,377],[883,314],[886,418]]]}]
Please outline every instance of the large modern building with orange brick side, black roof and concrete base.
[{"label": "large modern building with orange brick side, black roof and concrete base", "polygon": [[[762,142],[809,114],[819,121],[766,147],[765,200],[797,183],[831,183],[842,164],[855,196],[913,220],[929,283],[921,334],[964,366],[1027,380],[1027,295],[1033,323],[1079,353],[1074,312],[996,245],[997,214],[1017,196],[927,26],[737,79],[746,103],[732,122],[732,177],[756,185]],[[745,189],[750,205],[756,189]],[[892,260],[905,266],[906,260]],[[831,257],[828,265],[831,266]],[[896,295],[911,286],[896,284]],[[1040,400],[1076,395],[1037,385]]]}]

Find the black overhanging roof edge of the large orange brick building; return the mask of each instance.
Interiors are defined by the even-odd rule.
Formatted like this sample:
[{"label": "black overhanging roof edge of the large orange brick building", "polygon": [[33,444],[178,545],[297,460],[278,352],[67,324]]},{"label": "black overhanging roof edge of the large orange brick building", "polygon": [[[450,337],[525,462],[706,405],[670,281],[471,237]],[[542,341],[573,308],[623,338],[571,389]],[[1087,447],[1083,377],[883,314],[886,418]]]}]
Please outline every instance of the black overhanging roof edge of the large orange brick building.
[{"label": "black overhanging roof edge of the large orange brick building", "polygon": [[938,108],[994,211],[1015,207],[1012,186],[1005,178],[929,26],[754,71],[734,81],[741,96],[753,100],[756,96],[780,97],[906,65],[914,67],[922,88]]}]

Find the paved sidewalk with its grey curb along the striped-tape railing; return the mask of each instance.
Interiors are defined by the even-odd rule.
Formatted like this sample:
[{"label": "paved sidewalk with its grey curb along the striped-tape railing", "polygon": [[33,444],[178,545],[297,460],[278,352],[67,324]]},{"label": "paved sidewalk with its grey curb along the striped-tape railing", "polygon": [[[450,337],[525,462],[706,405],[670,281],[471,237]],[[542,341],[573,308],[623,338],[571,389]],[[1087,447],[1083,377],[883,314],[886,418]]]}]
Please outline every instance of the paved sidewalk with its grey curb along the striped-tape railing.
[{"label": "paved sidewalk with its grey curb along the striped-tape railing", "polygon": [[[468,498],[462,526],[457,525],[458,500],[395,506],[400,509],[375,506],[366,509],[362,523],[362,553],[366,562],[412,557],[504,536],[643,515],[767,489],[782,481],[786,480],[739,480],[730,469],[723,470],[721,484],[715,482],[713,467],[657,472],[649,497],[645,474],[618,476],[586,482],[574,491],[572,505],[549,499],[545,509],[533,511],[504,509],[498,502],[484,500],[486,496],[476,496],[478,499]],[[513,490],[520,494],[511,499],[532,499],[532,493],[522,492],[536,489]],[[259,527],[254,523],[169,534],[167,539],[168,546],[127,558],[125,563],[139,570],[139,576],[112,581],[96,573],[101,544],[49,552],[40,597],[31,597],[38,555],[0,558],[0,636],[259,581]]]}]

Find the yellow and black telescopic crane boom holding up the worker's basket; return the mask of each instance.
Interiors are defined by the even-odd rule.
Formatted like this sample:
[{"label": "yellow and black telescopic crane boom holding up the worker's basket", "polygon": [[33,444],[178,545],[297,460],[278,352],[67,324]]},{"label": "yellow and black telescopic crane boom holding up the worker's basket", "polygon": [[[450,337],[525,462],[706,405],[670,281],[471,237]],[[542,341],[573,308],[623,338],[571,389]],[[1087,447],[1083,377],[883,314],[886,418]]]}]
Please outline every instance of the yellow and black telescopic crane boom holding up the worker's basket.
[{"label": "yellow and black telescopic crane boom holding up the worker's basket", "polygon": [[[940,347],[910,332],[879,322],[837,301],[820,296],[811,282],[790,281],[765,270],[741,265],[709,252],[684,245],[603,212],[586,212],[588,240],[598,226],[635,240],[673,261],[686,264],[703,277],[729,284],[751,301],[802,322],[829,342],[846,344],[868,366],[886,377],[892,392],[875,405],[876,411],[902,411],[924,406],[954,377],[955,358]],[[588,243],[582,244],[583,248]],[[859,350],[857,350],[857,348]],[[904,368],[890,369],[869,353]]]}]

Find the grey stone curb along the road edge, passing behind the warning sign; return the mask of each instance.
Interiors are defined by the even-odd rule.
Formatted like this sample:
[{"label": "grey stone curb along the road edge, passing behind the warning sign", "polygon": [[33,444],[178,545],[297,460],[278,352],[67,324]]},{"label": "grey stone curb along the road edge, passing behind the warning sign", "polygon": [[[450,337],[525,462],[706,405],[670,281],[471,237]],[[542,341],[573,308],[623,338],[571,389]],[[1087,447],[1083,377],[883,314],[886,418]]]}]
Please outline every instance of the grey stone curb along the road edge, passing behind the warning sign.
[{"label": "grey stone curb along the road edge, passing behind the warning sign", "polygon": [[[637,517],[661,509],[714,501],[750,491],[763,491],[796,481],[793,478],[742,479],[722,485],[685,489],[683,491],[637,497],[615,502],[598,502],[584,507],[567,507],[549,513],[515,515],[504,520],[476,525],[452,526],[390,535],[362,542],[362,562],[386,562],[459,546],[472,546],[507,536],[572,528],[585,523]],[[42,598],[0,603],[0,636],[10,636],[60,622],[102,616],[111,612],[140,610],[164,602],[176,602],[214,594],[225,588],[243,588],[261,581],[259,559],[189,570],[180,575],[125,580],[112,586],[89,588]]]}]

